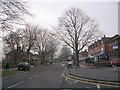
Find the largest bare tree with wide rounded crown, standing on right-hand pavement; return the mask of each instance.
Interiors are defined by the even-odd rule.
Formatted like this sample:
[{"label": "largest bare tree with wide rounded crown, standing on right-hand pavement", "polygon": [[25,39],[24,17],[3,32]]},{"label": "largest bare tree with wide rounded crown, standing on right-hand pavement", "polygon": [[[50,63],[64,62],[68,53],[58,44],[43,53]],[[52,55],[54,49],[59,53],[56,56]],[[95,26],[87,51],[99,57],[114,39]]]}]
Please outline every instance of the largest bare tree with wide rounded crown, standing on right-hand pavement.
[{"label": "largest bare tree with wide rounded crown, standing on right-hand pavement", "polygon": [[56,31],[61,40],[73,49],[77,66],[79,66],[79,52],[101,36],[98,31],[98,24],[79,8],[67,10],[59,18]]}]

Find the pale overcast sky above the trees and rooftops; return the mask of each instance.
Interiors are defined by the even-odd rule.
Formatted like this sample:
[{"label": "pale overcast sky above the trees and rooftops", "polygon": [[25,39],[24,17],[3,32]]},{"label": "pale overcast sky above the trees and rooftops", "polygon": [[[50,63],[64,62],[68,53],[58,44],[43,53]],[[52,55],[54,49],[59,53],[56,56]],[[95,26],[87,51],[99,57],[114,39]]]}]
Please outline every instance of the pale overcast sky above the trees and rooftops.
[{"label": "pale overcast sky above the trees and rooftops", "polygon": [[[52,29],[58,18],[70,7],[80,8],[99,23],[100,31],[106,36],[118,33],[118,0],[24,0],[34,17],[26,17],[28,23]],[[83,2],[84,1],[84,2]],[[88,2],[89,1],[89,2]],[[0,39],[1,42],[1,39]],[[0,45],[0,58],[2,45]]]}]

